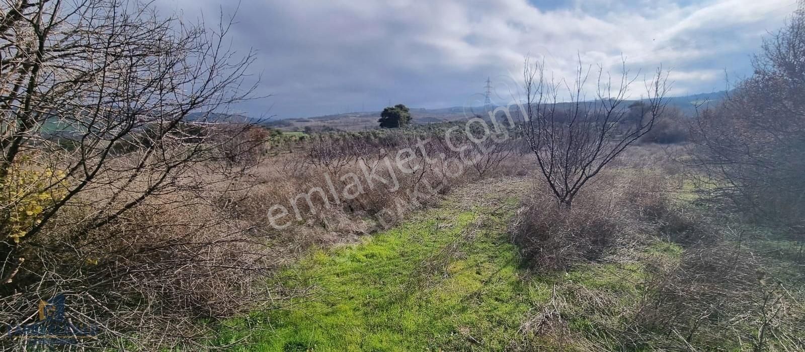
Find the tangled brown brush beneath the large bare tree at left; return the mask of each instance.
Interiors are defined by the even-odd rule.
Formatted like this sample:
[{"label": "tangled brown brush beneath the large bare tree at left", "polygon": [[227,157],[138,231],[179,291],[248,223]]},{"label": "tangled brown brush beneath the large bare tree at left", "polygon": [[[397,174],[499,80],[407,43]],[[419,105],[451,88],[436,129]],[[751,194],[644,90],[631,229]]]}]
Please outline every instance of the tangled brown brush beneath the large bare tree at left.
[{"label": "tangled brown brush beneath the large bare tree at left", "polygon": [[[269,287],[255,283],[269,277],[286,255],[228,216],[231,204],[219,199],[229,190],[208,176],[210,187],[202,193],[149,197],[89,231],[83,221],[97,211],[89,204],[106,196],[102,189],[82,194],[85,205],[65,212],[22,252],[30,265],[13,283],[29,290],[3,297],[4,328],[31,324],[35,319],[25,317],[37,311],[40,300],[61,297],[72,324],[97,332],[92,338],[76,333],[67,346],[196,348],[215,338],[214,325],[200,319],[213,322],[270,305]],[[31,348],[40,340],[18,337],[4,346]]]}]

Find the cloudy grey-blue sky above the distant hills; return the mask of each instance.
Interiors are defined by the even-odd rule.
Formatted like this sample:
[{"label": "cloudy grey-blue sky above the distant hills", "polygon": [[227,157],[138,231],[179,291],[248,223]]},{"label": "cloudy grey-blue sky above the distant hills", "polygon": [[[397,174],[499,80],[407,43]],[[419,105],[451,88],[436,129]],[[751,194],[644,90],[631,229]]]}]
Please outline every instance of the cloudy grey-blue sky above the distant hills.
[{"label": "cloudy grey-blue sky above the distant hills", "polygon": [[[158,0],[194,20],[234,0]],[[250,116],[310,117],[403,103],[444,108],[517,80],[525,55],[568,76],[576,55],[617,72],[671,68],[674,95],[751,73],[750,55],[796,0],[242,0],[233,46],[257,51]],[[514,77],[514,78],[512,78]],[[498,92],[498,95],[505,96]],[[498,98],[501,99],[501,98]],[[501,101],[502,102],[502,101]]]}]

